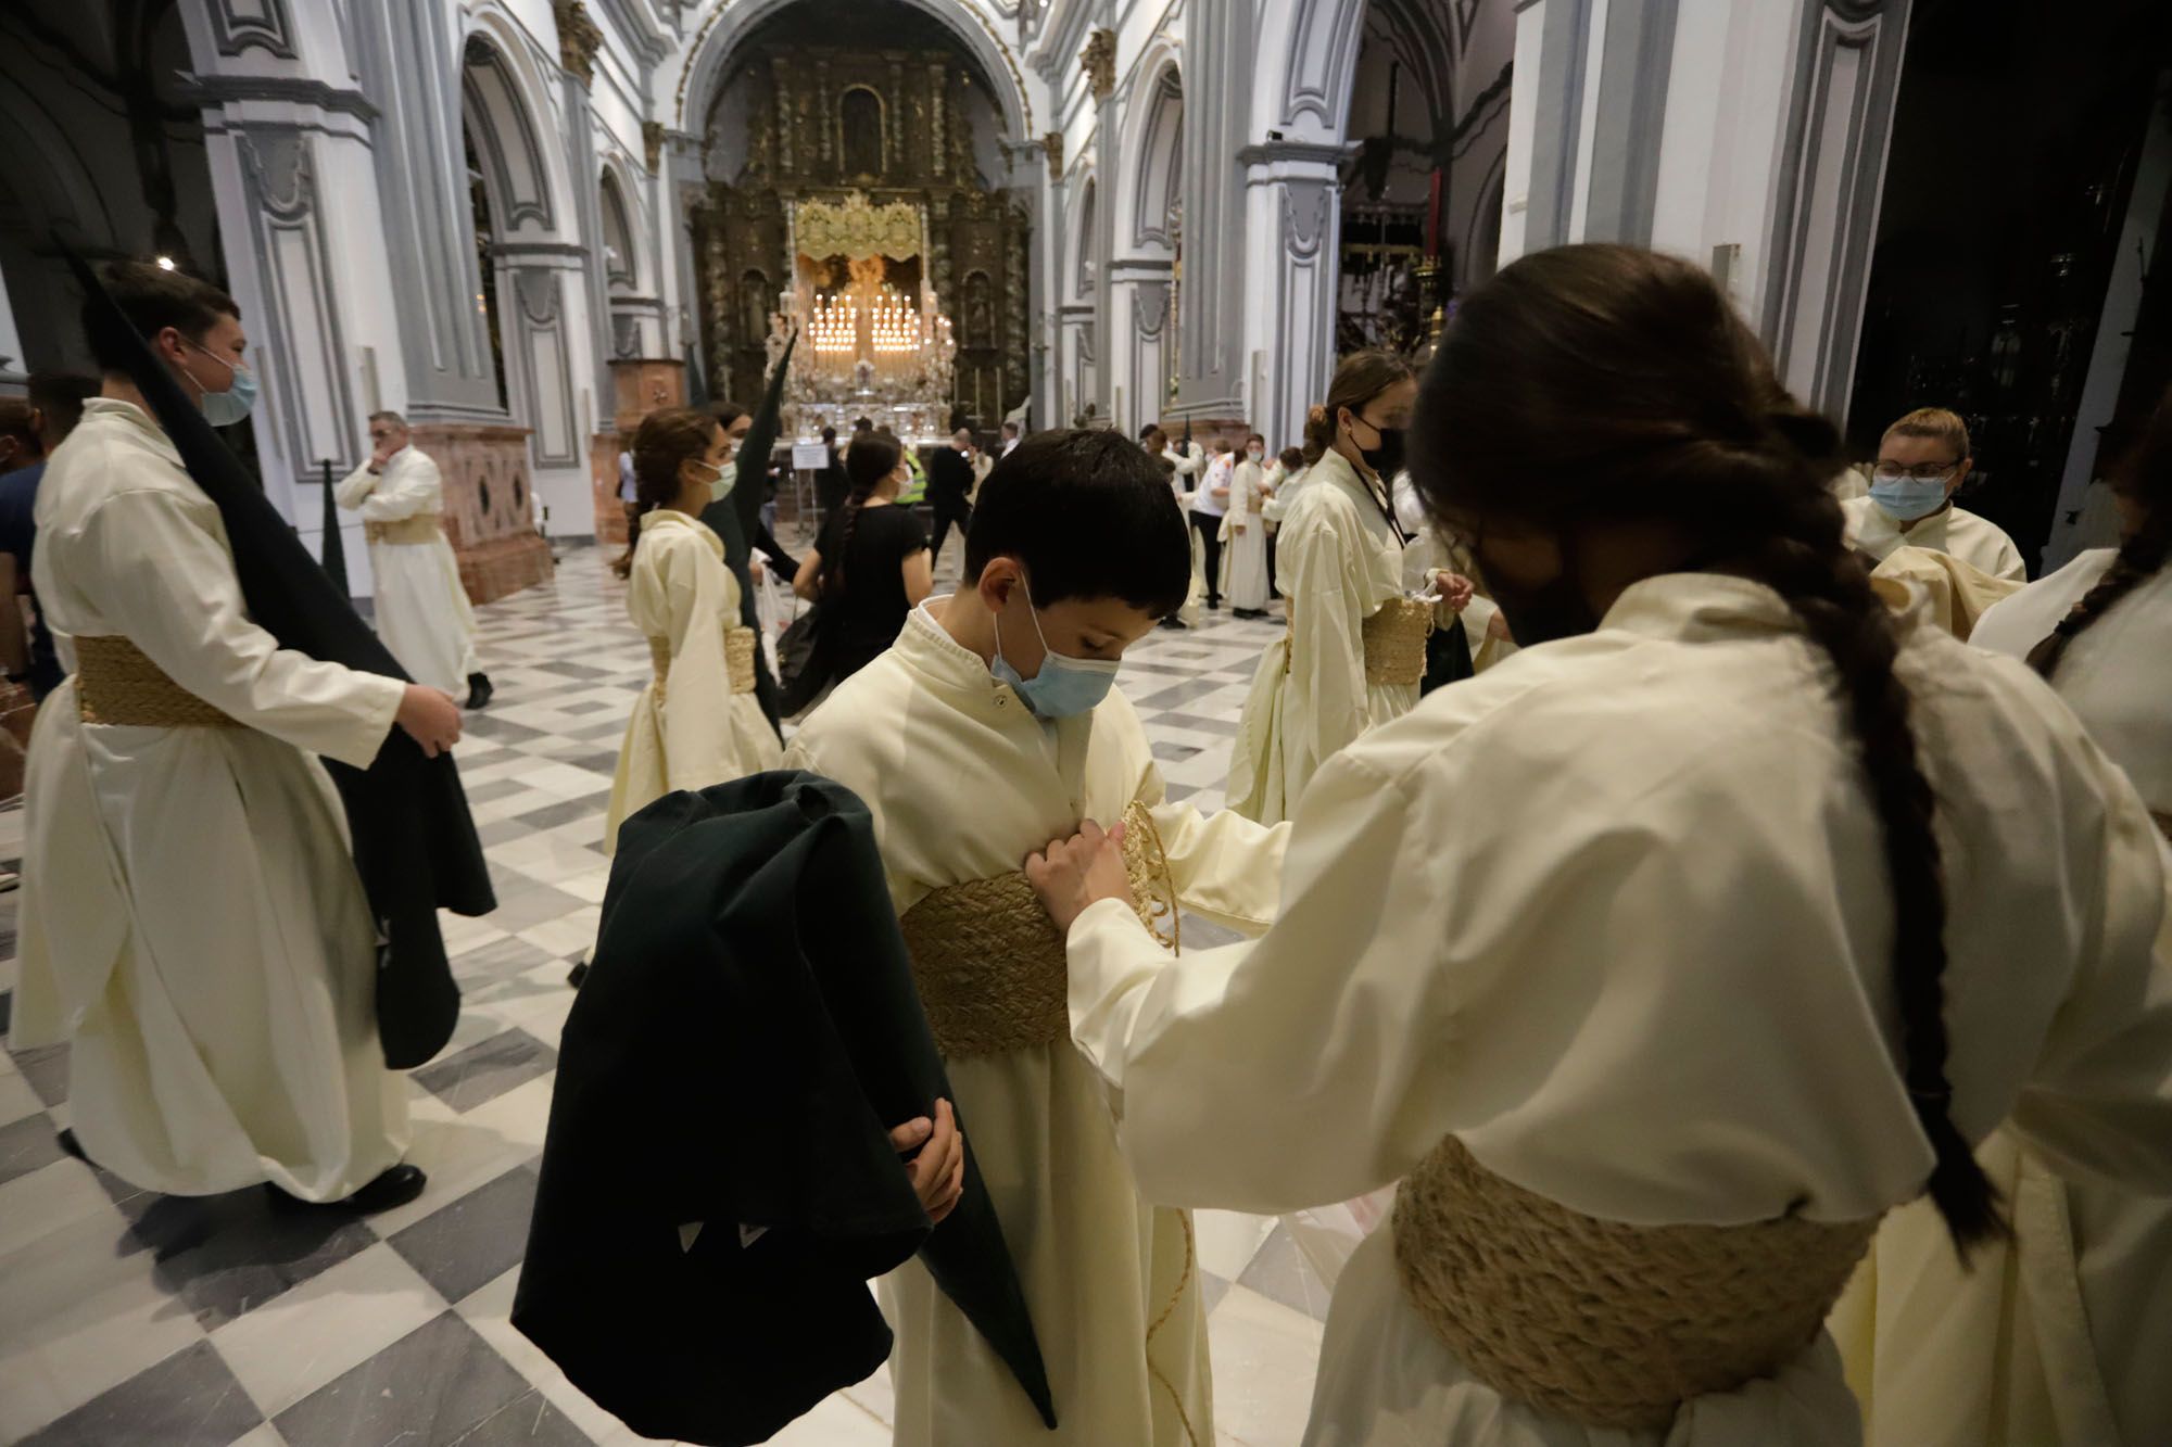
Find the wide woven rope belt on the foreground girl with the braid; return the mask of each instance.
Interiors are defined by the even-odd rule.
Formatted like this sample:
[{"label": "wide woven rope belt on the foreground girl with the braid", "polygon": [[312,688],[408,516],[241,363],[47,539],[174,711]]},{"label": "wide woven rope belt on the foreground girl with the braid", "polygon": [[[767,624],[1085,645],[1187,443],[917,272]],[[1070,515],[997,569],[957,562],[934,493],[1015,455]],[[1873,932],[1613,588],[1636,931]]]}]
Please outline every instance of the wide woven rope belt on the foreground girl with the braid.
[{"label": "wide woven rope belt on the foreground girl with the braid", "polygon": [[1449,1136],[1394,1197],[1394,1262],[1477,1380],[1586,1427],[1653,1430],[1809,1345],[1877,1225],[1599,1221]]}]

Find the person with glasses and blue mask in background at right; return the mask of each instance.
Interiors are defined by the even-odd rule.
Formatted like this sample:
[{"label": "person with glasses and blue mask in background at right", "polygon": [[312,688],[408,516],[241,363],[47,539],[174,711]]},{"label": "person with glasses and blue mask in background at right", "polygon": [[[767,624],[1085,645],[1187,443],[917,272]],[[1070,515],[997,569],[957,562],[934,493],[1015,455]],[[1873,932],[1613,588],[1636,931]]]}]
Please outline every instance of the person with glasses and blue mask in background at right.
[{"label": "person with glasses and blue mask in background at right", "polygon": [[1885,561],[1894,548],[1950,552],[1992,578],[2029,580],[2020,548],[1987,517],[1955,506],[1974,458],[1968,424],[1924,406],[1885,428],[1866,498],[1842,500],[1848,543]]}]

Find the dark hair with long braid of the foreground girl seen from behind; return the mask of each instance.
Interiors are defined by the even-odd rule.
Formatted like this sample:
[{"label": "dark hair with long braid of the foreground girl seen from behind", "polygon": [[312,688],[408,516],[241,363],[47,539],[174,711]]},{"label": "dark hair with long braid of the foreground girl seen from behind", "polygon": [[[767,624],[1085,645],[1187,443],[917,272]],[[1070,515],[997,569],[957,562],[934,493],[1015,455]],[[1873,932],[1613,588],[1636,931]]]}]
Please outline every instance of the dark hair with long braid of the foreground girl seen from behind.
[{"label": "dark hair with long braid of the foreground girl seen from behind", "polygon": [[1937,806],[1894,676],[1896,624],[1824,487],[1844,461],[1838,428],[1781,389],[1705,272],[1568,246],[1516,261],[1462,304],[1425,376],[1414,443],[1412,476],[1447,532],[1514,519],[1566,539],[1579,524],[1668,521],[1699,558],[1788,600],[1833,663],[1881,823],[1901,1071],[1935,1154],[1929,1195],[1963,1258],[2007,1232],[1950,1115]]}]

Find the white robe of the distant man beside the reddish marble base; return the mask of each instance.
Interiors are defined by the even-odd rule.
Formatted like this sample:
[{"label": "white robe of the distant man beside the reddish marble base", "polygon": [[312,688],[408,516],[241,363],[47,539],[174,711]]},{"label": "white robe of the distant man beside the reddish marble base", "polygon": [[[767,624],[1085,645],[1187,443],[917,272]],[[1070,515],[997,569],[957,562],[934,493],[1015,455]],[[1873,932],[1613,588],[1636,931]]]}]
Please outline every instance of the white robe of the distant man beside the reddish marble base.
[{"label": "white robe of the distant man beside the reddish marble base", "polygon": [[439,524],[424,543],[369,543],[376,578],[378,637],[415,682],[463,695],[476,667],[476,611],[460,584],[460,563],[445,541],[445,485],[437,461],[402,448],[382,474],[367,465],[348,474],[332,495],[363,521],[428,517]]}]

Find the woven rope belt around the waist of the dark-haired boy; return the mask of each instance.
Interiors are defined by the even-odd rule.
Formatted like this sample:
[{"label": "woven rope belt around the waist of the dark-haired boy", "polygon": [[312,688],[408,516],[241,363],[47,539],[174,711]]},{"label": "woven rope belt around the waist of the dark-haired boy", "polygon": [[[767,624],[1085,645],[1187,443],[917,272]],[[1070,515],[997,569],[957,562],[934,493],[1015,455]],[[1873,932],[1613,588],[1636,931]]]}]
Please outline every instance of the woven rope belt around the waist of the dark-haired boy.
[{"label": "woven rope belt around the waist of the dark-haired boy", "polygon": [[[1175,947],[1177,895],[1169,856],[1153,815],[1136,802],[1123,813],[1123,865],[1140,923]],[[938,889],[899,923],[927,1028],[947,1060],[1071,1039],[1064,936],[1023,871]]]}]

